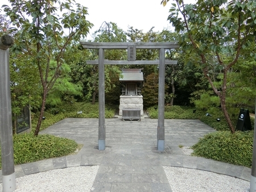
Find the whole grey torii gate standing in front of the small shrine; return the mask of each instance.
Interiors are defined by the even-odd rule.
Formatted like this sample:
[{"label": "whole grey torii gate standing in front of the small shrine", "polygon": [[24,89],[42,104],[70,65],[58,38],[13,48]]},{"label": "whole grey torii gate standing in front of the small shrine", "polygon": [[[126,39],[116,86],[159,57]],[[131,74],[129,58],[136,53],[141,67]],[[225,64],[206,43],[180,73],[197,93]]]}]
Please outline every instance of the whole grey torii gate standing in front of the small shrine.
[{"label": "whole grey torii gate standing in front of the small shrine", "polygon": [[[105,150],[106,125],[105,125],[105,73],[104,64],[112,65],[159,65],[159,88],[158,88],[158,127],[157,148],[164,151],[164,72],[165,65],[177,64],[177,61],[165,60],[165,49],[179,48],[175,42],[161,43],[119,43],[119,42],[86,42],[80,41],[84,48],[98,49],[98,60],[86,61],[87,64],[98,64],[98,150]],[[128,61],[105,60],[104,49],[127,49]],[[142,61],[136,60],[136,49],[159,49],[159,60]]]}]

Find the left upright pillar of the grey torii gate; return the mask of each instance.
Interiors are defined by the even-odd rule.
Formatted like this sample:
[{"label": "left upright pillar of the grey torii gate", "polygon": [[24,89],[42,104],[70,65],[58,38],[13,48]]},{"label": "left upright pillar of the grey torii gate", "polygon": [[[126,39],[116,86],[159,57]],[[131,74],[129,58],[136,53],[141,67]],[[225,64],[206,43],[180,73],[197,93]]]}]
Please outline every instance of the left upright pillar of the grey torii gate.
[{"label": "left upright pillar of the grey torii gate", "polygon": [[104,49],[98,49],[98,150],[105,150],[105,72]]}]

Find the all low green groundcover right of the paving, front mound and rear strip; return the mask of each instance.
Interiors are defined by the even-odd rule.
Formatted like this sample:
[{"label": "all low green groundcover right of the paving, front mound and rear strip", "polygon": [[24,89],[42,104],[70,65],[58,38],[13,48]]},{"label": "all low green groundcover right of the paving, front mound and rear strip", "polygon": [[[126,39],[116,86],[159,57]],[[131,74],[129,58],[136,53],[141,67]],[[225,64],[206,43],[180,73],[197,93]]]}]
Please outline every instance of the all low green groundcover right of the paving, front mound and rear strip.
[{"label": "all low green groundcover right of the paving, front mound and rear strip", "polygon": [[[222,111],[207,116],[207,111],[196,110],[192,107],[166,106],[164,108],[166,119],[199,119],[218,132],[209,133],[199,143],[193,145],[195,156],[211,158],[213,160],[228,162],[230,164],[251,167],[253,153],[253,131],[231,133]],[[148,108],[151,118],[158,118],[158,108]],[[220,121],[217,121],[217,118]],[[232,116],[233,126],[236,127],[238,114]],[[254,127],[254,119],[251,118]]]}]

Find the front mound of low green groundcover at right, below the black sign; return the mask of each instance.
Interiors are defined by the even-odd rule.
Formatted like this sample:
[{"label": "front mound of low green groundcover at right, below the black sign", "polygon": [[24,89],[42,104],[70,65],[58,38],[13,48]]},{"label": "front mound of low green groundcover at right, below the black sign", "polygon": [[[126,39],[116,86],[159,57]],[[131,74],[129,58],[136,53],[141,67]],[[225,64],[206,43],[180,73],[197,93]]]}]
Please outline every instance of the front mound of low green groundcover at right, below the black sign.
[{"label": "front mound of low green groundcover at right, below the black sign", "polygon": [[254,131],[218,131],[205,135],[193,145],[192,155],[251,167]]}]

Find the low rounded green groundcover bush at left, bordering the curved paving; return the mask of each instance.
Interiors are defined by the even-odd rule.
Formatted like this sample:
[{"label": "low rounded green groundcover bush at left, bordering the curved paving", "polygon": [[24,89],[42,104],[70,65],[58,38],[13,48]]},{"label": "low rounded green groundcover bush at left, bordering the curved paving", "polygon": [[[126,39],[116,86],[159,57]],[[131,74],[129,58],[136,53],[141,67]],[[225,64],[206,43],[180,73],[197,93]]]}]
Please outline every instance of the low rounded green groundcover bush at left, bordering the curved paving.
[{"label": "low rounded green groundcover bush at left, bordering the curved paving", "polygon": [[69,155],[79,148],[79,144],[70,139],[31,133],[14,135],[13,143],[15,165]]}]

